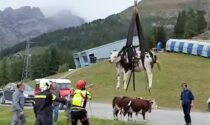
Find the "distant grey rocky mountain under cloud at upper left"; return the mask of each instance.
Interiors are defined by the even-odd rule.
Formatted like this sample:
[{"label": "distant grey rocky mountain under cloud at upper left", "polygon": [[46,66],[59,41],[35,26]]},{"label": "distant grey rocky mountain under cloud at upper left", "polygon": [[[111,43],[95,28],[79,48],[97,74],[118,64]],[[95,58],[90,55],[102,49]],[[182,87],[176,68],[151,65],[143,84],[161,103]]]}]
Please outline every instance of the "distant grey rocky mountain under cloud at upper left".
[{"label": "distant grey rocky mountain under cloud at upper left", "polygon": [[0,50],[43,33],[79,26],[84,22],[84,19],[70,12],[60,12],[52,18],[46,18],[38,7],[9,7],[0,11]]}]

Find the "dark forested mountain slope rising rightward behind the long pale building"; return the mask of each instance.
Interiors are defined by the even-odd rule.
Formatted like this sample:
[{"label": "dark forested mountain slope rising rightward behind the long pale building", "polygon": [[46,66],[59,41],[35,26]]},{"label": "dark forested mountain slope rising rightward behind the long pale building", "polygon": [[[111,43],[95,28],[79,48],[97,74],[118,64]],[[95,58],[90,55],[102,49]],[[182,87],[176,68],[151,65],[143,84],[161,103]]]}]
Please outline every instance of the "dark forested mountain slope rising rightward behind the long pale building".
[{"label": "dark forested mountain slope rising rightward behind the long pale building", "polygon": [[[164,25],[167,35],[171,36],[178,12],[187,8],[192,1],[146,0],[138,4],[146,38],[151,37],[153,27],[157,25]],[[123,12],[109,16],[106,19],[86,23],[80,27],[43,34],[32,39],[35,42],[33,46],[55,44],[58,47],[65,47],[74,52],[123,39],[127,36],[132,11],[133,8],[129,7]],[[1,55],[13,54],[24,48],[24,43],[21,43],[3,51]]]}]

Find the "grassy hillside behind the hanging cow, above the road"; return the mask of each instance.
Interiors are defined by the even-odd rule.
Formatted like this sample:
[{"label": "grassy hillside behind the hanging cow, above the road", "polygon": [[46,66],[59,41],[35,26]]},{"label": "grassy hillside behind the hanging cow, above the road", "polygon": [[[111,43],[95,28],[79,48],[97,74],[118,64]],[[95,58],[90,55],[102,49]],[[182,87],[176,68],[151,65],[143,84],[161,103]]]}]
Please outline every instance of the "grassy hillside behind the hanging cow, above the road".
[{"label": "grassy hillside behind the hanging cow, above the road", "polygon": [[[181,83],[189,83],[195,96],[197,110],[207,110],[206,101],[210,97],[210,59],[177,53],[158,54],[161,70],[154,67],[152,94],[145,90],[145,79],[142,73],[136,73],[136,91],[132,83],[128,92],[116,90],[115,65],[101,62],[81,69],[68,78],[75,83],[84,79],[95,84],[93,101],[111,103],[114,96],[131,96],[155,99],[160,107],[178,108]],[[122,84],[121,84],[122,85]]]}]

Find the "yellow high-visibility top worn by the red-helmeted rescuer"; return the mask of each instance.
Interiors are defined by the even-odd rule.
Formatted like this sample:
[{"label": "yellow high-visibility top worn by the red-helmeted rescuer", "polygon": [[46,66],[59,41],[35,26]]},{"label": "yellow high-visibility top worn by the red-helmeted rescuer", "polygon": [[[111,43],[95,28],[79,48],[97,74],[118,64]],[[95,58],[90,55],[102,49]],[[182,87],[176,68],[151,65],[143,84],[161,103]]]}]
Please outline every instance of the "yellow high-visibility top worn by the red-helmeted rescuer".
[{"label": "yellow high-visibility top worn by the red-helmeted rescuer", "polygon": [[84,103],[87,99],[91,99],[90,93],[86,90],[76,89],[72,99],[72,105],[77,107],[84,107]]}]

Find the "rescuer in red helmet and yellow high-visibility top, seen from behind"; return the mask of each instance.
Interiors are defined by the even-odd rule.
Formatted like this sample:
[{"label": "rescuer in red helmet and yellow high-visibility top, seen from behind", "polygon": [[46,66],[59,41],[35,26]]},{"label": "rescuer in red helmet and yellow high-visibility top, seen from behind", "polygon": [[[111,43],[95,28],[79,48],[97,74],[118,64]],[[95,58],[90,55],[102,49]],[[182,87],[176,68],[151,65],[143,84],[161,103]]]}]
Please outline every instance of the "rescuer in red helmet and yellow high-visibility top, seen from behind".
[{"label": "rescuer in red helmet and yellow high-visibility top, seen from behind", "polygon": [[82,125],[89,125],[87,111],[85,109],[87,100],[91,100],[91,94],[86,90],[86,82],[79,80],[73,93],[71,104],[71,124],[77,125],[78,120]]}]

